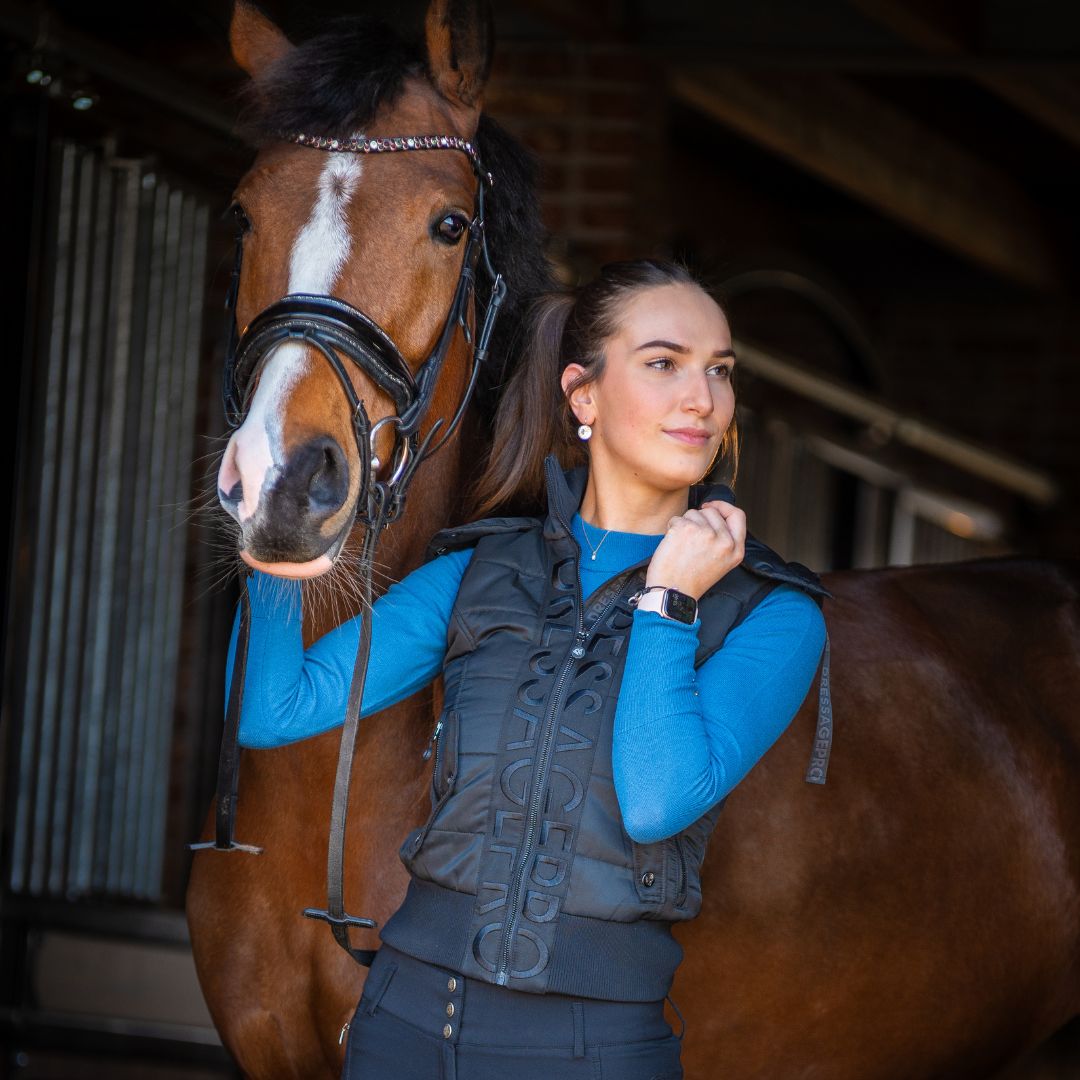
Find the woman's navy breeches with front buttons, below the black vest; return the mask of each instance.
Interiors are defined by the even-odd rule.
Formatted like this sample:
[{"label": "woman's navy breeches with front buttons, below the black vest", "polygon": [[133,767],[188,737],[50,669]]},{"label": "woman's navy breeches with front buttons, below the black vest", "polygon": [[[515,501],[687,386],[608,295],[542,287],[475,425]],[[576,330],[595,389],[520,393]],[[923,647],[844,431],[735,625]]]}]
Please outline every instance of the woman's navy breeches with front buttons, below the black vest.
[{"label": "woman's navy breeches with front buttons, below the black vest", "polygon": [[[588,962],[588,958],[582,958]],[[662,1001],[524,994],[383,945],[343,1080],[681,1080]]]}]

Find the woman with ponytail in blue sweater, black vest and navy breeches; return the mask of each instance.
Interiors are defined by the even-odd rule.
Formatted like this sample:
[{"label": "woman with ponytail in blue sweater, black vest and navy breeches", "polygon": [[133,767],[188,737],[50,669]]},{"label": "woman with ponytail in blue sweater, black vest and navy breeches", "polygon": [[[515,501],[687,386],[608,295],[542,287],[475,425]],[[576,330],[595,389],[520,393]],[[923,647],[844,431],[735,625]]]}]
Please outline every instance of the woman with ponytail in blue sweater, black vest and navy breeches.
[{"label": "woman with ponytail in blue sweater, black vest and navy breeches", "polygon": [[[346,1076],[681,1076],[671,926],[824,642],[812,576],[693,486],[733,453],[733,364],[677,266],[618,264],[538,303],[480,490],[485,512],[544,496],[546,516],[440,534],[373,612],[363,711],[440,673],[446,707]],[[247,746],[333,727],[348,693],[357,621],[305,653],[281,588],[252,589]]]}]

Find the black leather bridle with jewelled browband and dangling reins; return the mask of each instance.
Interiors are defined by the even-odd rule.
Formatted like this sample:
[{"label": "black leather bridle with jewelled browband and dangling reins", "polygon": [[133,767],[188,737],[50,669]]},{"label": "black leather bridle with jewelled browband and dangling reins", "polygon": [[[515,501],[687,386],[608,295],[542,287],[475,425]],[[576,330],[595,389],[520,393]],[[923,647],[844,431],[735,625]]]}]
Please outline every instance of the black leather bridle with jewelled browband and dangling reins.
[{"label": "black leather bridle with jewelled browband and dangling reins", "polygon": [[[444,446],[461,421],[472,394],[495,329],[499,309],[507,296],[503,278],[491,266],[487,249],[484,220],[484,191],[494,186],[494,178],[480,159],[476,148],[457,135],[409,135],[367,138],[354,135],[346,139],[307,135],[300,132],[281,136],[289,143],[330,153],[397,153],[411,150],[456,150],[469,157],[476,174],[476,201],[468,226],[468,240],[461,261],[454,298],[446,320],[430,354],[416,374],[402,355],[393,339],[364,312],[333,296],[293,293],[259,312],[243,334],[237,334],[235,307],[243,262],[244,222],[238,224],[235,261],[226,310],[229,315],[229,340],[226,351],[222,400],[226,419],[232,428],[243,423],[251,405],[252,388],[261,366],[281,345],[293,341],[312,348],[337,375],[352,414],[353,435],[360,457],[361,490],[356,498],[353,519],[342,535],[356,523],[365,527],[361,550],[362,610],[372,610],[372,559],[382,529],[402,513],[409,484],[419,465]],[[483,314],[480,333],[469,326],[470,311],[475,311],[476,271],[482,269],[490,282],[490,296]],[[469,379],[454,415],[447,421],[435,419],[423,437],[420,429],[431,410],[435,388],[454,338],[460,328],[472,345]],[[349,378],[342,357],[356,365],[394,404],[395,411],[372,423],[367,409]],[[389,456],[387,475],[381,475],[383,462],[375,446],[383,427],[393,429],[394,443]],[[438,435],[435,441],[436,434]],[[330,838],[327,852],[327,905],[306,908],[308,918],[329,923],[338,944],[354,959],[370,964],[374,951],[353,948],[349,928],[374,929],[372,919],[348,915],[343,902],[345,828],[349,805],[349,783],[353,752],[364,696],[367,660],[370,652],[372,620],[361,620],[360,646],[353,667],[349,700],[338,752],[334,783],[334,805],[330,814]],[[235,840],[237,791],[240,775],[240,713],[243,704],[244,676],[247,666],[247,645],[251,627],[251,604],[246,581],[241,594],[240,632],[237,640],[229,704],[226,712],[221,752],[218,758],[215,838],[190,845],[192,850],[246,851],[253,854],[261,848]]]}]

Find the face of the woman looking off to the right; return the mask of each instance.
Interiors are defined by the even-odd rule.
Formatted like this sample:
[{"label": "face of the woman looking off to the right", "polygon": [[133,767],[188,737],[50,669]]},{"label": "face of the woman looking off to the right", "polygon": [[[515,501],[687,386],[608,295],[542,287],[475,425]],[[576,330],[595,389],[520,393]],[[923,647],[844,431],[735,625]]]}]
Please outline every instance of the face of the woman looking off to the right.
[{"label": "face of the woman looking off to the right", "polygon": [[734,414],[733,365],[727,320],[697,285],[633,296],[608,339],[603,374],[570,397],[593,429],[592,469],[658,491],[697,483]]}]

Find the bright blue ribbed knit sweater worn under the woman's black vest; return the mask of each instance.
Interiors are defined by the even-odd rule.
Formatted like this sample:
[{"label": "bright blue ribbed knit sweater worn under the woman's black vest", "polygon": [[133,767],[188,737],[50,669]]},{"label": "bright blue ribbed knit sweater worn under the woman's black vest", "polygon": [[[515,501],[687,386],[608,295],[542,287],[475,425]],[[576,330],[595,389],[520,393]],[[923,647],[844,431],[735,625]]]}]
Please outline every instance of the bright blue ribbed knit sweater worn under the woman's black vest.
[{"label": "bright blue ribbed knit sweater worn under the woman's black vest", "polygon": [[[648,558],[662,539],[632,532],[605,537],[578,515],[571,528],[581,545],[584,596]],[[471,554],[464,550],[435,558],[376,602],[365,715],[408,697],[442,670],[450,612]],[[241,743],[280,746],[339,725],[359,618],[305,651],[298,586],[256,573],[251,596]],[[697,623],[635,613],[612,752],[619,806],[631,837],[648,843],[672,836],[734,787],[791,723],[824,642],[816,604],[787,585],[758,604],[697,672]],[[230,676],[234,648],[235,627]]]}]

